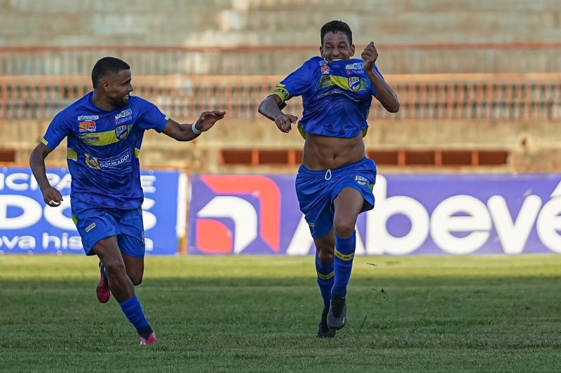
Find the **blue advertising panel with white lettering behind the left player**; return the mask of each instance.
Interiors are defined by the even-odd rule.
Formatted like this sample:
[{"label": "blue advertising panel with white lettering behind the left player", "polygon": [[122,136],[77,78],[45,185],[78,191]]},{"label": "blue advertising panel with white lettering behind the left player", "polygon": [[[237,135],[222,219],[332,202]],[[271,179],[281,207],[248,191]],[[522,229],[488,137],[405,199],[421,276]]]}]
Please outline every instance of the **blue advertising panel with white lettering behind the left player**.
[{"label": "blue advertising panel with white lettering behind the left player", "polygon": [[[180,172],[145,169],[141,175],[146,253],[173,255],[178,248]],[[48,168],[47,177],[62,194],[59,207],[43,202],[29,168],[0,167],[0,253],[83,254],[70,211],[70,174],[65,168]],[[184,209],[179,211],[181,216]]]}]

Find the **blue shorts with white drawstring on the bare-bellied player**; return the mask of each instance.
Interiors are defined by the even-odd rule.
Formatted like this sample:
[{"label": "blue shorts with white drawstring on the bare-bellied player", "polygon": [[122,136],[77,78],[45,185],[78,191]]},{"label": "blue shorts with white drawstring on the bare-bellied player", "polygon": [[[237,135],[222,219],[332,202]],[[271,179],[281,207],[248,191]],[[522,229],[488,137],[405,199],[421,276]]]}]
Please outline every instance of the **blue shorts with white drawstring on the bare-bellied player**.
[{"label": "blue shorts with white drawstring on the bare-bellied player", "polygon": [[333,228],[333,200],[343,188],[354,188],[365,203],[360,212],[374,208],[372,187],[376,182],[376,163],[368,158],[338,169],[312,171],[304,165],[296,176],[296,195],[313,238],[323,237]]}]

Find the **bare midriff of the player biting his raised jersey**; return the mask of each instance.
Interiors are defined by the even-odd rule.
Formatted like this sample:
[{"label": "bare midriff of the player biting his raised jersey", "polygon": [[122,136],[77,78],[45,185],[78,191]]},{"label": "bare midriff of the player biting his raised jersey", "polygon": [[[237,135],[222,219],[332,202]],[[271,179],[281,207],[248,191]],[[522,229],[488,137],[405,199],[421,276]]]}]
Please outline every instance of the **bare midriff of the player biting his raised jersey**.
[{"label": "bare midriff of the player biting his raised jersey", "polygon": [[351,139],[306,134],[303,163],[307,169],[337,169],[359,162],[364,155],[362,134]]}]

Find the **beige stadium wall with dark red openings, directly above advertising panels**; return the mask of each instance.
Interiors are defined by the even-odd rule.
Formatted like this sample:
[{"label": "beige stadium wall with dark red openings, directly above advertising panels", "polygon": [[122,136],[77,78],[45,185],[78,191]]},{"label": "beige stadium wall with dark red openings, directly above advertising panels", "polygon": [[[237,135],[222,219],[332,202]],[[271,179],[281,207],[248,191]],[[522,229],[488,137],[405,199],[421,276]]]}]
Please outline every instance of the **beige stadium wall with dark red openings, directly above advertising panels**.
[{"label": "beige stadium wall with dark red openings, directly above advertising panels", "polygon": [[[11,150],[4,161],[27,163],[47,126],[38,120],[0,125],[0,148]],[[561,171],[557,121],[378,120],[370,126],[367,151],[386,173]],[[269,120],[227,120],[191,143],[149,131],[140,160],[146,167],[165,164],[192,172],[284,173],[297,169],[303,145],[296,130],[280,134]],[[62,144],[48,162],[65,164],[66,157]]]}]

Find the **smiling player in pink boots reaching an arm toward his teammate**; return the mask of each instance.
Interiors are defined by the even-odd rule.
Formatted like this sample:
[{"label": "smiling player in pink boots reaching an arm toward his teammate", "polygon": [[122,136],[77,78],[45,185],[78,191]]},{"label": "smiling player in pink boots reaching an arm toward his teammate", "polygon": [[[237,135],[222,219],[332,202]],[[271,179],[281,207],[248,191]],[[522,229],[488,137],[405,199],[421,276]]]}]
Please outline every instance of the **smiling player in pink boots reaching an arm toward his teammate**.
[{"label": "smiling player in pink boots reaching an arm toward his teammate", "polygon": [[198,120],[180,125],[154,104],[130,95],[130,66],[114,57],[97,61],[93,92],[55,116],[29,164],[46,204],[60,206],[62,195],[45,171],[45,158],[68,138],[68,169],[72,176],[72,220],[86,255],[100,258],[97,299],[111,294],[140,335],[140,344],[156,343],[156,335],[135,296],[144,273],[144,225],[138,153],[147,129],[191,141],[208,131],[224,111],[205,111]]}]

